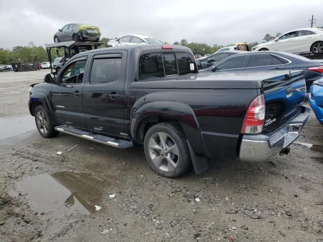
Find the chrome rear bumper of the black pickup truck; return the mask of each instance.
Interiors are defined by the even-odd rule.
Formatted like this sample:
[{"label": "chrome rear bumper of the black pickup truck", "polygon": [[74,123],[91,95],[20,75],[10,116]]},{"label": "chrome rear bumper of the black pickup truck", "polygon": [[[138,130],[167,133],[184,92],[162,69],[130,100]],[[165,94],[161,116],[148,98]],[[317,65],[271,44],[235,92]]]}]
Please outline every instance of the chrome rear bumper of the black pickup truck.
[{"label": "chrome rear bumper of the black pickup truck", "polygon": [[310,108],[303,106],[304,112],[290,119],[283,127],[270,136],[243,135],[239,158],[242,161],[263,162],[290,146],[307,122]]}]

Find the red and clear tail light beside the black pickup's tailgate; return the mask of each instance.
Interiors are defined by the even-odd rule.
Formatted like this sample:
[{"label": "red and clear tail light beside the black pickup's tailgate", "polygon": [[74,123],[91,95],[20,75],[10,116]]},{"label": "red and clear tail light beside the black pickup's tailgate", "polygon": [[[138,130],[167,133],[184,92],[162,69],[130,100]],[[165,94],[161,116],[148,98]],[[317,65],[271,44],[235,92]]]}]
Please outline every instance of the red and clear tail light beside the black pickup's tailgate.
[{"label": "red and clear tail light beside the black pickup's tailgate", "polygon": [[265,116],[264,95],[257,96],[249,105],[243,121],[241,133],[258,134],[262,131]]}]

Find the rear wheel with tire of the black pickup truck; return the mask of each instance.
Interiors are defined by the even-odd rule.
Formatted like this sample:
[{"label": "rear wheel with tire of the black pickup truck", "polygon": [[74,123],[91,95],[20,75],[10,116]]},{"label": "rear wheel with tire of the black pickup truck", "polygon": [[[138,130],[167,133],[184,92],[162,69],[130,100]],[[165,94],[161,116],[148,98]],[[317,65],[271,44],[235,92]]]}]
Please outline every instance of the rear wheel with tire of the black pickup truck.
[{"label": "rear wheel with tire of the black pickup truck", "polygon": [[[152,149],[149,147],[149,142],[153,137],[157,139],[160,137],[158,134],[166,134],[166,142],[163,151],[157,151],[157,149]],[[154,143],[158,146],[158,142]],[[163,147],[162,142],[159,142],[160,148]],[[172,151],[170,151],[172,146],[176,146],[176,155]],[[161,150],[161,149],[160,149]],[[172,123],[160,123],[152,126],[146,133],[144,139],[144,151],[146,155],[146,159],[152,168],[152,170],[159,174],[170,178],[179,177],[185,174],[188,169],[191,167],[191,159],[188,150],[188,146],[186,143],[186,138],[183,134],[183,131],[180,127]],[[163,153],[162,153],[163,152]],[[156,163],[152,160],[152,156],[155,156],[153,159],[155,160],[158,157],[163,161],[158,161],[160,166],[158,167]],[[159,159],[159,160],[160,160]],[[169,159],[172,160],[171,169],[166,168],[170,167]],[[167,163],[167,164],[166,164]],[[175,165],[173,165],[175,164]],[[175,166],[175,168],[174,168]]]}]

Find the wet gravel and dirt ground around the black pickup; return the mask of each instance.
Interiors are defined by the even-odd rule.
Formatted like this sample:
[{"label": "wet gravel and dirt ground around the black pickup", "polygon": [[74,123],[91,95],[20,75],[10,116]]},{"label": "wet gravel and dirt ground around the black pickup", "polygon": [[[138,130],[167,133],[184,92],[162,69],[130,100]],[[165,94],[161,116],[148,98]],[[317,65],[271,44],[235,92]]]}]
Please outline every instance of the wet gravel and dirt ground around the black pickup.
[{"label": "wet gravel and dirt ground around the black pickup", "polygon": [[47,72],[0,73],[0,241],[323,241],[323,127],[313,113],[289,155],[214,159],[203,174],[168,179],[141,146],[42,138],[28,85]]}]

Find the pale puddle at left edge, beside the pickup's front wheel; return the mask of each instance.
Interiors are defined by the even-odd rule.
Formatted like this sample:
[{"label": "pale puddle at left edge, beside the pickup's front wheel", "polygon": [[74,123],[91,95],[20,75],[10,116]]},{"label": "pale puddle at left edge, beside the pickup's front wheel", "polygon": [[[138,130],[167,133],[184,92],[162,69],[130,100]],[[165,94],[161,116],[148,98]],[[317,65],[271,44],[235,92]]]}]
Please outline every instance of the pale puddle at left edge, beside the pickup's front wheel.
[{"label": "pale puddle at left edge, beside the pickup's front wheel", "polygon": [[31,115],[0,118],[0,140],[37,130],[35,118]]}]

